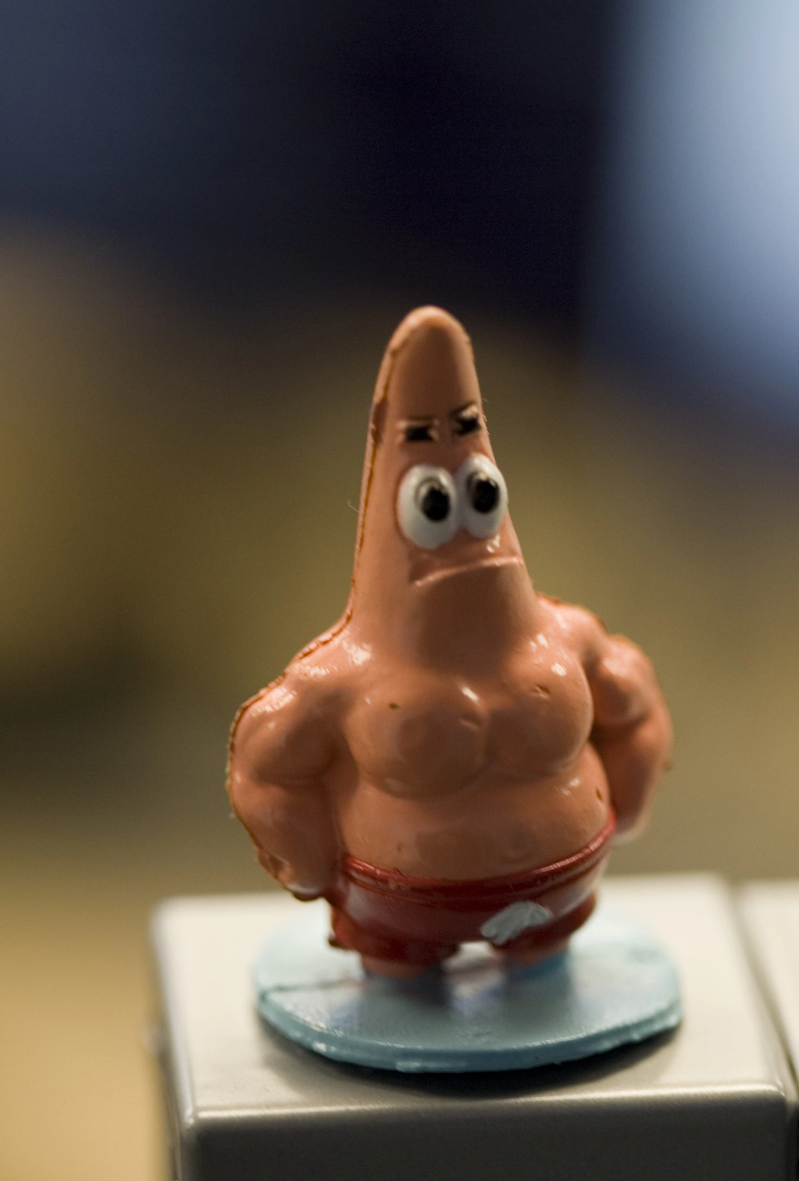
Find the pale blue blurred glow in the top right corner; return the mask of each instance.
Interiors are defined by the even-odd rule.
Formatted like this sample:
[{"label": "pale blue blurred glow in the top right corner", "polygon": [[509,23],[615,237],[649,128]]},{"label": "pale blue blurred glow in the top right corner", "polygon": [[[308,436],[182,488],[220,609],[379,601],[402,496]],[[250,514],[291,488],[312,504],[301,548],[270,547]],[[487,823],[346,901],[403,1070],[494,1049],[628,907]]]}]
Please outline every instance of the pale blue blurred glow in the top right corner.
[{"label": "pale blue blurred glow in the top right corner", "polygon": [[799,5],[627,0],[597,347],[689,396],[799,410]]}]

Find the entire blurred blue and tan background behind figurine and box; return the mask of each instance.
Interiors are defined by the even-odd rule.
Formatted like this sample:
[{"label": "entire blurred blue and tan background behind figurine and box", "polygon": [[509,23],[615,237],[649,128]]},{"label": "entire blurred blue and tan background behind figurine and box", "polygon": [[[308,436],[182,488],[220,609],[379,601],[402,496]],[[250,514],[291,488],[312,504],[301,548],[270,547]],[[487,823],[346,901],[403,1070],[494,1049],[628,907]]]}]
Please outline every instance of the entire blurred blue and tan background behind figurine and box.
[{"label": "entire blurred blue and tan background behind figurine and box", "polygon": [[148,912],[266,886],[227,729],[342,608],[417,304],[672,705],[615,872],[797,875],[798,58],[788,0],[2,6],[4,1179],[163,1176]]}]

